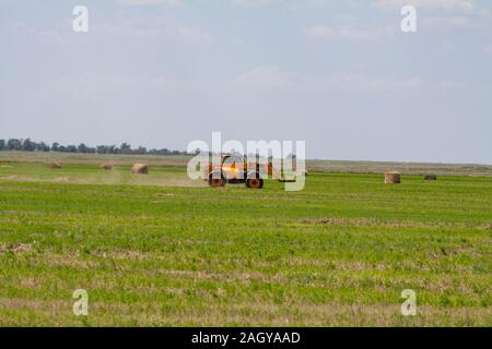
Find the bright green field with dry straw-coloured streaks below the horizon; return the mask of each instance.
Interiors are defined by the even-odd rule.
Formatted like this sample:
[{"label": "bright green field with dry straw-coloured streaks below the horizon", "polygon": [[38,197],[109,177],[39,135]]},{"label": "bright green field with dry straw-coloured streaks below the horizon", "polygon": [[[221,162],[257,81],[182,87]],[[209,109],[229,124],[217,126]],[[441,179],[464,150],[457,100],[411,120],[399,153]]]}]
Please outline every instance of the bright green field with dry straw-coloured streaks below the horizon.
[{"label": "bright green field with dry straw-coloured streaks below the horizon", "polygon": [[0,163],[0,326],[492,326],[491,288],[492,178],[212,190],[183,167]]}]

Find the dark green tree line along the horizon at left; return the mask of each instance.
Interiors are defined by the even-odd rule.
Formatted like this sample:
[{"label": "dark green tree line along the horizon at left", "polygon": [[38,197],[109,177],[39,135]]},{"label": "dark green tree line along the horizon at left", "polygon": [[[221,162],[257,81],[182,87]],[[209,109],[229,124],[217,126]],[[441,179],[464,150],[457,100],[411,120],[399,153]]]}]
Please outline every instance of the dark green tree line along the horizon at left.
[{"label": "dark green tree line along the horizon at left", "polygon": [[148,149],[144,146],[132,148],[130,144],[121,145],[97,145],[91,147],[81,143],[79,145],[62,145],[58,142],[51,145],[45,142],[34,142],[31,139],[19,140],[9,139],[0,140],[1,151],[21,151],[21,152],[60,152],[60,153],[81,153],[81,154],[160,154],[160,155],[187,155],[186,152],[163,149]]}]

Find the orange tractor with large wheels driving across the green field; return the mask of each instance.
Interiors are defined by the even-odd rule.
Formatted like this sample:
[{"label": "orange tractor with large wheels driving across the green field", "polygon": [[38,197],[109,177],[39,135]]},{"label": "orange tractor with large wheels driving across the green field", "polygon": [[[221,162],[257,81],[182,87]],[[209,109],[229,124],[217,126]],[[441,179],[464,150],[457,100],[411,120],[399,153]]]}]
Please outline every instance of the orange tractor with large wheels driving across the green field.
[{"label": "orange tractor with large wheels driving across the green field", "polygon": [[208,178],[209,185],[213,188],[224,186],[225,183],[244,183],[250,189],[261,189],[263,188],[262,174],[272,174],[271,163],[268,164],[266,169],[263,167],[256,161],[256,167],[248,169],[248,163],[243,156],[222,154],[221,165],[209,164],[208,169],[206,169],[206,178]]}]

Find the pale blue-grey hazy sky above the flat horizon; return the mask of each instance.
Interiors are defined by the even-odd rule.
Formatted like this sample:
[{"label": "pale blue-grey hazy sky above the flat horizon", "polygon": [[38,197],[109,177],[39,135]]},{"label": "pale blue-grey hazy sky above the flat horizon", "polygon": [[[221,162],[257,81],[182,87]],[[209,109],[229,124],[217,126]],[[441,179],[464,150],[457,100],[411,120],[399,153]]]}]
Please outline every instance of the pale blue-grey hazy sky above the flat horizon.
[{"label": "pale blue-grey hazy sky above the flat horizon", "polygon": [[492,164],[492,1],[0,0],[0,139],[186,149],[213,131]]}]

